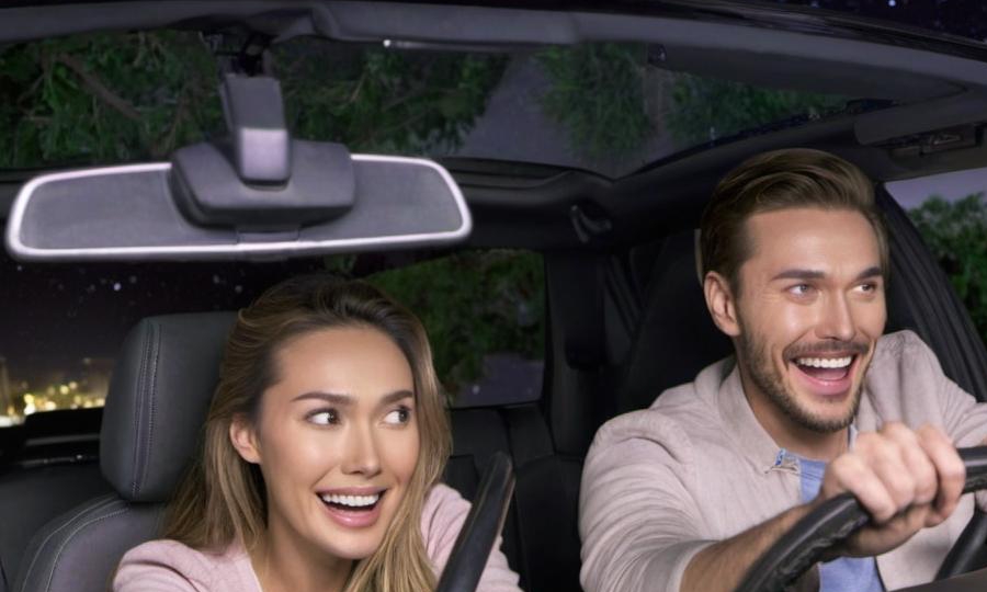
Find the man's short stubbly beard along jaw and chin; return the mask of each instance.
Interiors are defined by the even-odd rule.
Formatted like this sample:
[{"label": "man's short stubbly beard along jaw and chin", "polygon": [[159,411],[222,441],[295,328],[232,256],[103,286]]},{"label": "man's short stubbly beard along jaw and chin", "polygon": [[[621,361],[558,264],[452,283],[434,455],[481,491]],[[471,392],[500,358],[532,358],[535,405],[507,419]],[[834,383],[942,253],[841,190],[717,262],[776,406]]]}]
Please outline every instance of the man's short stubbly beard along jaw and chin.
[{"label": "man's short stubbly beard along jaw and chin", "polygon": [[[861,348],[865,348],[862,344],[848,345],[849,350],[858,352],[860,352]],[[856,410],[860,407],[860,394],[863,388],[862,380],[850,394],[850,408],[847,410],[846,415],[837,419],[819,418],[799,405],[795,395],[785,388],[784,379],[779,374],[778,368],[774,367],[774,364],[771,363],[771,355],[768,353],[768,345],[764,340],[758,340],[750,331],[741,329],[739,346],[738,363],[746,364],[751,382],[796,424],[813,432],[831,434],[853,423],[853,418],[856,415]],[[862,355],[862,353],[856,355]]]}]

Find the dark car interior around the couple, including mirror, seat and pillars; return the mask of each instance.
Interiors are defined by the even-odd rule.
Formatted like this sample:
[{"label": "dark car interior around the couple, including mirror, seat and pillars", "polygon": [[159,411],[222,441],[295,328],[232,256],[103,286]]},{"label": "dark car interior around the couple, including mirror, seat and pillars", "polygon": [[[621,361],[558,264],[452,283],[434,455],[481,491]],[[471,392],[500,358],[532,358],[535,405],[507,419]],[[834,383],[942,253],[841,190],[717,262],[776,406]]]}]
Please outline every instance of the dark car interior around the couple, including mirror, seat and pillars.
[{"label": "dark car interior around the couple, including mirror, seat and pillars", "polygon": [[[238,194],[249,181],[308,174],[299,172],[308,162],[299,157],[302,144],[291,145],[293,152],[286,148],[302,140],[287,134],[283,118],[265,119],[271,88],[234,88],[263,78],[247,72],[228,87],[224,105],[231,152],[204,143],[178,150],[168,164],[139,170],[0,172],[9,260],[0,270],[3,289],[19,282],[21,289],[44,288],[46,274],[70,264],[109,269],[125,262],[151,273],[168,270],[161,273],[171,283],[191,283],[206,273],[206,262],[234,270],[254,261],[264,270],[259,283],[270,285],[318,269],[328,254],[537,253],[546,310],[538,392],[522,402],[477,397],[454,403],[445,475],[475,499],[491,458],[510,458],[513,494],[502,550],[523,590],[580,590],[579,480],[595,430],[619,413],[648,407],[665,389],[731,353],[704,305],[695,232],[717,180],[747,157],[819,148],[875,181],[890,231],[886,331],[916,331],[954,382],[987,401],[987,350],[906,210],[885,189],[892,181],[987,167],[983,43],[729,1],[616,2],[608,9],[329,0],[0,8],[0,46],[161,27],[246,32],[272,43],[295,36],[340,45],[404,39],[408,47],[504,55],[633,42],[648,44],[649,56],[669,70],[866,98],[831,117],[711,140],[616,175],[496,155],[436,157],[438,166],[429,160],[415,168],[395,155],[350,155],[345,147],[311,141],[305,149],[318,155],[313,158],[341,160],[325,167],[325,178],[313,173],[305,181],[329,187],[329,195],[316,214],[300,214],[314,216],[302,218],[302,231],[284,231],[277,218],[283,204],[247,207]],[[265,127],[285,135],[249,133]],[[201,152],[209,149],[212,157]],[[279,161],[272,153],[286,152],[294,158],[273,172],[265,169]],[[411,169],[400,168],[406,164]],[[183,182],[173,181],[181,175]],[[410,197],[395,200],[399,187]],[[211,198],[219,194],[232,195],[232,205]],[[232,220],[232,229],[217,230],[223,220]],[[14,273],[22,267],[31,275]],[[18,306],[32,303],[22,298]],[[191,311],[175,301],[171,310],[147,315],[120,342],[105,408],[34,413],[23,424],[0,428],[0,592],[105,590],[121,556],[155,538],[161,510],[197,444],[235,309],[216,303]],[[987,568],[987,519],[976,515],[967,532],[963,553],[951,555],[940,572],[943,588],[928,590],[962,590],[949,588],[949,578],[969,571],[965,581],[987,581],[987,572],[976,580],[976,570]]]}]

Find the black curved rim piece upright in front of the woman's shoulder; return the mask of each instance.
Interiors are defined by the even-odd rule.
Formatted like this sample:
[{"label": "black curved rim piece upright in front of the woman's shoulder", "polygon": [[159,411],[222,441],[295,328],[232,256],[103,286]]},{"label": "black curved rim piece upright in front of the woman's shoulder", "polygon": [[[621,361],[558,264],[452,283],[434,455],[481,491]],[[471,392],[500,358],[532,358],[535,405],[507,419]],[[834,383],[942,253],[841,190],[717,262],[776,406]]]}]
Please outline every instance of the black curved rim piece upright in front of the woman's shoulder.
[{"label": "black curved rim piece upright in front of the woman's shoulder", "polygon": [[453,545],[439,578],[435,592],[475,592],[497,535],[503,526],[511,493],[514,491],[514,470],[511,459],[502,452],[490,457],[473,508],[460,536]]}]

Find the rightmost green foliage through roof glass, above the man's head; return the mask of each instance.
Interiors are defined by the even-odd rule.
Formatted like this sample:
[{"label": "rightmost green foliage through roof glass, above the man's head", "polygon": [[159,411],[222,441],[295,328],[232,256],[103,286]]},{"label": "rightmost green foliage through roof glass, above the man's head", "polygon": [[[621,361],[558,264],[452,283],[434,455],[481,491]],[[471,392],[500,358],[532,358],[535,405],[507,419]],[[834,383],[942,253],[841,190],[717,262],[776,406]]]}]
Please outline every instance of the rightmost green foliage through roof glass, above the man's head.
[{"label": "rightmost green foliage through roof glass, above the man's head", "polygon": [[740,82],[679,73],[669,88],[665,121],[679,146],[731,136],[796,115],[816,119],[841,111],[846,98],[772,90]]}]

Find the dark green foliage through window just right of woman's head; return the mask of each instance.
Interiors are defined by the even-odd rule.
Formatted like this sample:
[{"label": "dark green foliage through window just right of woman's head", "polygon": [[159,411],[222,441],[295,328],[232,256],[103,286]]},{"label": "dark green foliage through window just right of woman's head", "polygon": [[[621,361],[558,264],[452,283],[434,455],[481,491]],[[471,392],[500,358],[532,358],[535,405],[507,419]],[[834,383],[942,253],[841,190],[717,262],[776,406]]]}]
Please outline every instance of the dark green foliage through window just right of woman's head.
[{"label": "dark green foliage through window just right of woman's head", "polygon": [[545,278],[537,254],[469,251],[367,280],[421,319],[450,392],[479,378],[487,353],[544,355]]}]

